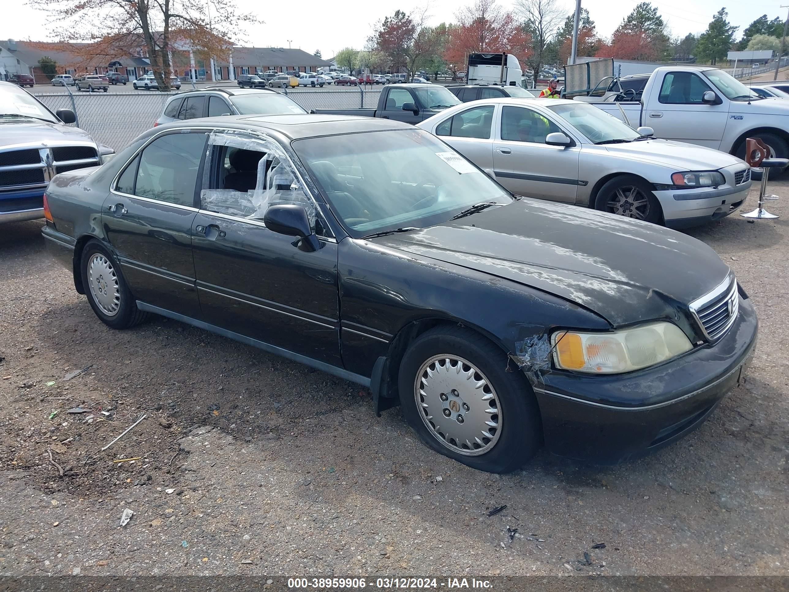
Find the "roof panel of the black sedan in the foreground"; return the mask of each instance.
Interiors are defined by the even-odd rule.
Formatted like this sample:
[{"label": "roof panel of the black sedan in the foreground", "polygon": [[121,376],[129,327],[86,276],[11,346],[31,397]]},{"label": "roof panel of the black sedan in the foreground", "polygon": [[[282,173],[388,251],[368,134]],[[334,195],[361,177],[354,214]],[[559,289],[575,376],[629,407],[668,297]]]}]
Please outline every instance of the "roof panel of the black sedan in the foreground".
[{"label": "roof panel of the black sedan in the foreground", "polygon": [[[204,122],[209,126],[228,126],[250,131],[273,131],[290,140],[307,137],[333,136],[341,133],[378,132],[390,129],[414,129],[412,125],[391,119],[357,117],[354,115],[230,115],[204,119],[187,119],[166,124],[168,127],[194,127]],[[161,129],[157,127],[156,129]]]}]

